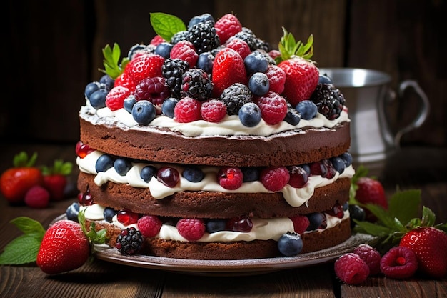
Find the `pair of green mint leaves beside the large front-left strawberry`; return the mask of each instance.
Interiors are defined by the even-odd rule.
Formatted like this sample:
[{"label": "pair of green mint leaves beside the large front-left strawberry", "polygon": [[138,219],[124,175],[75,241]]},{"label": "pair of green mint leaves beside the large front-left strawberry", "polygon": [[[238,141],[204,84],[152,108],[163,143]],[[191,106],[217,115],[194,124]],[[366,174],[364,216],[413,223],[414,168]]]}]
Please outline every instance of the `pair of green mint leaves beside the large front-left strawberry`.
[{"label": "pair of green mint leaves beside the large front-left strawberry", "polygon": [[44,227],[29,217],[17,217],[11,220],[11,224],[14,224],[24,234],[6,245],[4,252],[0,254],[0,264],[19,265],[35,262],[44,238]]}]

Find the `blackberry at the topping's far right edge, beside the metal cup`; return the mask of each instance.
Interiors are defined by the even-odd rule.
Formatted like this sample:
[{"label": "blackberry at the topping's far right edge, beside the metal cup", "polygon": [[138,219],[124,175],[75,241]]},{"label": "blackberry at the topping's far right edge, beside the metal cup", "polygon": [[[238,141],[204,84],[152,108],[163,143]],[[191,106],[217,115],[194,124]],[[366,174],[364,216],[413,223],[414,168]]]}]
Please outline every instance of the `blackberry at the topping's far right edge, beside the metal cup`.
[{"label": "blackberry at the topping's far right edge, beside the metal cup", "polygon": [[329,120],[337,119],[345,104],[343,94],[333,84],[318,84],[311,101],[316,104],[318,112]]}]

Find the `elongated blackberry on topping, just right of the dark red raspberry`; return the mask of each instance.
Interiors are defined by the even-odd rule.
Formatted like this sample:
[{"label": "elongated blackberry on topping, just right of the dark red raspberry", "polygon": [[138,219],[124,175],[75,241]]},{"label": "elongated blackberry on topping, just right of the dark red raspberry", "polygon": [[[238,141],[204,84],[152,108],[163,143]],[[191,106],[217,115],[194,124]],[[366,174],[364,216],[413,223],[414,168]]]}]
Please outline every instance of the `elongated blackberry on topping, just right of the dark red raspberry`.
[{"label": "elongated blackberry on topping, just right of the dark red raspberry", "polygon": [[176,99],[179,99],[181,96],[182,76],[188,69],[188,62],[181,59],[168,58],[164,61],[163,66],[161,66],[161,74],[166,79],[164,84],[171,91],[171,96]]}]

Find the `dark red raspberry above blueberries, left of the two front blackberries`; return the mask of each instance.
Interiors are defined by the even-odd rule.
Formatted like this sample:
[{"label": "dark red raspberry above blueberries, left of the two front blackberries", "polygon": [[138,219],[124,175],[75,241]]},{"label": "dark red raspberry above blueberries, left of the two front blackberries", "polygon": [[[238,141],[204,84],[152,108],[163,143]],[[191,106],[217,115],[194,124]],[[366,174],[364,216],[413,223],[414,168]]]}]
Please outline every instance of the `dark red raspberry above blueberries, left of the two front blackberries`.
[{"label": "dark red raspberry above blueberries, left of the two front blackberries", "polygon": [[135,87],[135,99],[137,101],[146,99],[152,104],[163,104],[163,101],[169,97],[169,89],[164,82],[165,79],[160,76],[142,79]]}]

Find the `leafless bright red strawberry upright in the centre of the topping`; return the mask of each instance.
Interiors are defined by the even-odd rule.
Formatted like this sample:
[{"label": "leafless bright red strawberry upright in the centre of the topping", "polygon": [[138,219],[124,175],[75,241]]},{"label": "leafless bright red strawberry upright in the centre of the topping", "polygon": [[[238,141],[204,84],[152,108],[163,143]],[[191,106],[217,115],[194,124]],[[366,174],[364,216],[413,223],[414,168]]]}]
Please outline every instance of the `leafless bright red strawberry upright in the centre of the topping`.
[{"label": "leafless bright red strawberry upright in the centre of the topping", "polygon": [[225,48],[214,59],[213,95],[219,97],[227,87],[235,83],[247,84],[247,74],[243,59],[237,51]]}]

